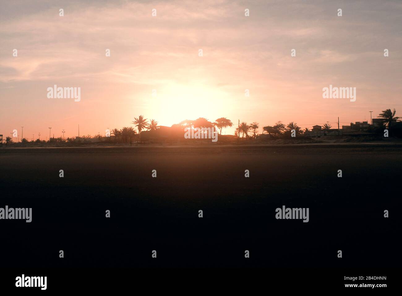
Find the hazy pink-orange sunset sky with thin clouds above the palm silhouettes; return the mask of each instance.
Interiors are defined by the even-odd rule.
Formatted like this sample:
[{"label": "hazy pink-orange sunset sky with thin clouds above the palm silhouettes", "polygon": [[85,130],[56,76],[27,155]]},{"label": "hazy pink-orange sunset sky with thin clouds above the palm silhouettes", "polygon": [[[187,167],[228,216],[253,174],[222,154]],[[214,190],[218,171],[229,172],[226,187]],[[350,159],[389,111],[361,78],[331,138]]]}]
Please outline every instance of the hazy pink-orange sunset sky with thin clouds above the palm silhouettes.
[{"label": "hazy pink-orange sunset sky with thin clouds above the palm silhouettes", "polygon": [[[376,0],[1,1],[0,134],[105,134],[140,114],[260,132],[402,116],[401,15],[402,1]],[[53,85],[80,87],[80,101],[49,98]],[[356,87],[356,101],[323,98],[329,85]]]}]

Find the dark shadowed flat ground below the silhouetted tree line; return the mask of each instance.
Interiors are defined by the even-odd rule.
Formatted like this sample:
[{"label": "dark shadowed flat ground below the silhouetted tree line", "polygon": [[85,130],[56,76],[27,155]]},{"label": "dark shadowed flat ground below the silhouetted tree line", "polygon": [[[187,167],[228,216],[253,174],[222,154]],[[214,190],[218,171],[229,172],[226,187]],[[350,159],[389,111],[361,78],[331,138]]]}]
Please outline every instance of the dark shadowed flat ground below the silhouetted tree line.
[{"label": "dark shadowed flat ground below the silhouetted tree line", "polygon": [[[401,152],[369,144],[2,148],[0,207],[32,207],[33,217],[0,220],[0,265],[400,266]],[[310,221],[275,219],[282,205],[310,208]]]}]

